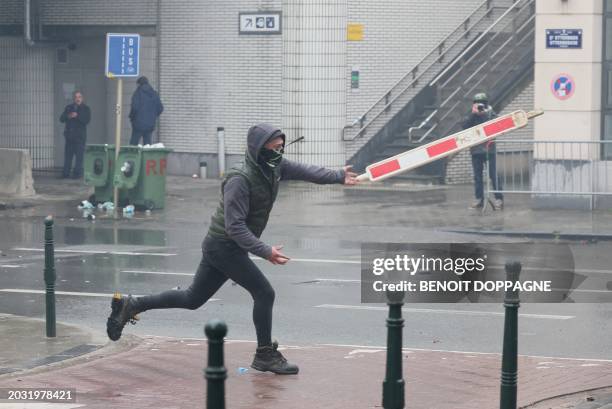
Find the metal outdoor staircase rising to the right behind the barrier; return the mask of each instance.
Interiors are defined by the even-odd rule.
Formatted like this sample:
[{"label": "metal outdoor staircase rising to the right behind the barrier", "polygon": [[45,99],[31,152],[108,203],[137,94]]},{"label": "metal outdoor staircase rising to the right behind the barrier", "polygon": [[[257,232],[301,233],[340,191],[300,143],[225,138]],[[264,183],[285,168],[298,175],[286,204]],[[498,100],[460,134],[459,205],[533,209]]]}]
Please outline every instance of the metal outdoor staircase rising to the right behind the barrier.
[{"label": "metal outdoor staircase rising to the right behind the barrier", "polygon": [[[361,170],[460,129],[473,94],[501,110],[534,65],[535,0],[483,1],[421,62],[344,129],[349,162]],[[441,183],[445,161],[398,178]]]}]

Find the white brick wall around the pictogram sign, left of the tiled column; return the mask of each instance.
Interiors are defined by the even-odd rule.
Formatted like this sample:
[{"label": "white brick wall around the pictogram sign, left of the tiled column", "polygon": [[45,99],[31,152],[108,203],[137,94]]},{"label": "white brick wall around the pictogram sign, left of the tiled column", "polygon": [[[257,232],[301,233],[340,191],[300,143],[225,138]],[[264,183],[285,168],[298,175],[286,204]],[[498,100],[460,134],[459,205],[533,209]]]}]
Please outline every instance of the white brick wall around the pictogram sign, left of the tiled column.
[{"label": "white brick wall around the pictogram sign, left of the tiled column", "polygon": [[238,13],[281,10],[280,0],[162,1],[162,141],[178,152],[242,154],[258,122],[281,125],[282,35],[239,35]]}]

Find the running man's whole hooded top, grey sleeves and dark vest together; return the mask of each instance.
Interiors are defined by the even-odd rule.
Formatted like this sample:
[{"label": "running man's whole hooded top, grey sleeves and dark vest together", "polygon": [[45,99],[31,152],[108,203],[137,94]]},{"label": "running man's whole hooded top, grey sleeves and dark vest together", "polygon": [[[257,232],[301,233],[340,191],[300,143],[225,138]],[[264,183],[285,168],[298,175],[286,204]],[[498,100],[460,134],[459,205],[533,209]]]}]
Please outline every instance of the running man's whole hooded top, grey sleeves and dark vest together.
[{"label": "running man's whole hooded top, grey sleeves and dark vest together", "polygon": [[222,184],[221,202],[211,219],[210,236],[235,242],[243,250],[269,258],[272,248],[259,237],[268,217],[281,180],[305,180],[319,184],[344,183],[343,170],[297,163],[283,158],[270,169],[260,164],[259,153],[270,139],[285,135],[268,124],[251,127],[247,136],[244,162],[230,170]]}]

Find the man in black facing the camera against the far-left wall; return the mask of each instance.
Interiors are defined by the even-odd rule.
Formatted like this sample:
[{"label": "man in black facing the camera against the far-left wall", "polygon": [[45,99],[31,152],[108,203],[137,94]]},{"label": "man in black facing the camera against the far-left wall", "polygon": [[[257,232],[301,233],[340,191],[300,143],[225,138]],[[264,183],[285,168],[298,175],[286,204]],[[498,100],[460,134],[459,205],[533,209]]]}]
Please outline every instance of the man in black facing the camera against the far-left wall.
[{"label": "man in black facing the camera against the far-left wall", "polygon": [[91,120],[91,110],[83,102],[83,93],[75,91],[72,94],[72,104],[66,105],[60,116],[60,122],[65,123],[64,128],[64,169],[62,177],[70,177],[72,158],[75,158],[73,179],[83,175],[83,153],[87,142],[87,124]]}]

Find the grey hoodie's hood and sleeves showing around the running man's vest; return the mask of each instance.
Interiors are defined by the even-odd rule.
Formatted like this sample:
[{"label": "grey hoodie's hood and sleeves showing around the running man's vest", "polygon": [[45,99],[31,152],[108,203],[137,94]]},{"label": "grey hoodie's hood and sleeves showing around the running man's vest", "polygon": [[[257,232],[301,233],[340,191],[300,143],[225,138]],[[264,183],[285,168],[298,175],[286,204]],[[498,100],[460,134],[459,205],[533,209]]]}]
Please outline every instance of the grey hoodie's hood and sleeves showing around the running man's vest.
[{"label": "grey hoodie's hood and sleeves showing around the running man's vest", "polygon": [[[247,152],[245,160],[258,163],[261,148],[270,139],[285,135],[278,128],[268,124],[259,124],[251,127],[247,136]],[[262,165],[259,165],[262,167]],[[264,165],[265,166],[265,165]],[[283,158],[280,165],[281,180],[305,180],[319,184],[344,183],[343,170],[331,170],[315,165],[306,165]],[[266,172],[262,167],[262,171]],[[225,231],[243,250],[256,256],[268,259],[272,254],[272,247],[262,242],[247,227],[246,219],[249,214],[249,185],[243,177],[230,178],[223,188]]]}]

